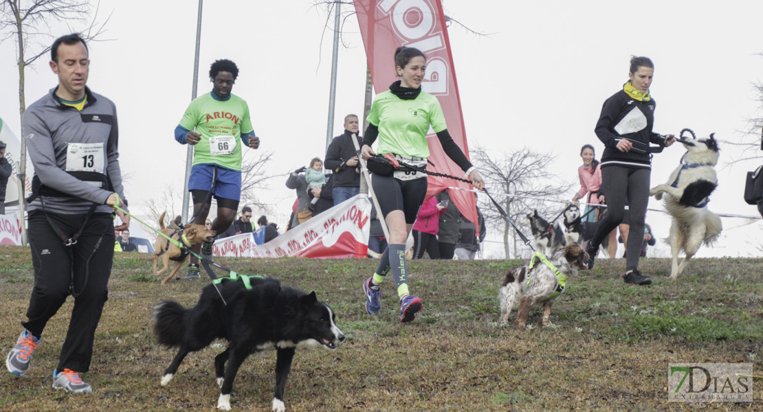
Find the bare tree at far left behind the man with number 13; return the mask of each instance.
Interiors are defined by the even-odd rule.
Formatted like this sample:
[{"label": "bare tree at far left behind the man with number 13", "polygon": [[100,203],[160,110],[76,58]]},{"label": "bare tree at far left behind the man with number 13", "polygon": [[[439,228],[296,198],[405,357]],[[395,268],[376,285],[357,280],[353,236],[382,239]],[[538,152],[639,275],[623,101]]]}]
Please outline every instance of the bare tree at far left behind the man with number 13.
[{"label": "bare tree at far left behind the man with number 13", "polygon": [[[93,40],[103,33],[105,24],[98,25],[95,18],[98,16],[98,5],[95,6],[93,20],[85,30],[82,37],[85,40]],[[84,23],[91,14],[90,3],[85,0],[0,0],[0,42],[14,40],[16,44],[16,63],[18,64],[18,111],[21,118],[21,155],[18,165],[18,194],[19,199],[24,199],[24,182],[26,180],[27,145],[24,137],[24,111],[27,109],[24,97],[24,69],[32,65],[40,56],[50,52],[50,25],[55,21]],[[32,49],[30,44],[36,47]],[[30,51],[33,50],[33,51]],[[36,50],[36,51],[34,51]],[[27,53],[29,52],[29,53]],[[19,208],[23,213],[24,202],[19,202]],[[22,219],[23,222],[23,219]],[[26,239],[26,225],[24,228],[24,243]]]}]

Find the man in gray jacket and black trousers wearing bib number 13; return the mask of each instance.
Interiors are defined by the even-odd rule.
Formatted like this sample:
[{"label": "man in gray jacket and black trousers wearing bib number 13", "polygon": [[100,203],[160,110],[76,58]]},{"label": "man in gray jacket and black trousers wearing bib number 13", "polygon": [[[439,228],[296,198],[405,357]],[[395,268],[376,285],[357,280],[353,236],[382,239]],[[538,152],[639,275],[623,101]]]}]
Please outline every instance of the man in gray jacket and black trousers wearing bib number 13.
[{"label": "man in gray jacket and black trousers wearing bib number 13", "polygon": [[[95,327],[106,302],[114,258],[113,206],[127,207],[117,150],[114,103],[85,86],[89,53],[77,34],[56,39],[50,69],[56,88],[24,113],[32,164],[29,244],[34,267],[28,321],[5,366],[24,375],[47,322],[68,295],[74,297],[53,388],[92,391],[79,374],[88,372]],[[118,212],[126,229],[130,219]],[[53,341],[60,340],[53,339]]]}]

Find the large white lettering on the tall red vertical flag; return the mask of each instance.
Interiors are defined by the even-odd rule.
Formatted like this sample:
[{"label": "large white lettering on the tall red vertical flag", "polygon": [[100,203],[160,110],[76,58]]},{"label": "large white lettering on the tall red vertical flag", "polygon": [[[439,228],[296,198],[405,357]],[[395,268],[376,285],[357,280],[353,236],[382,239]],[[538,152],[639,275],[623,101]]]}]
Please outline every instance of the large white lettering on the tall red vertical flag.
[{"label": "large white lettering on the tall red vertical flag", "polygon": [[[431,0],[385,0],[378,8],[387,16],[391,12],[392,28],[403,44],[421,50],[424,54],[445,49],[443,32],[432,33],[435,24],[435,8]],[[432,57],[427,60],[427,77],[421,88],[430,94],[447,95],[450,66],[445,59]]]}]

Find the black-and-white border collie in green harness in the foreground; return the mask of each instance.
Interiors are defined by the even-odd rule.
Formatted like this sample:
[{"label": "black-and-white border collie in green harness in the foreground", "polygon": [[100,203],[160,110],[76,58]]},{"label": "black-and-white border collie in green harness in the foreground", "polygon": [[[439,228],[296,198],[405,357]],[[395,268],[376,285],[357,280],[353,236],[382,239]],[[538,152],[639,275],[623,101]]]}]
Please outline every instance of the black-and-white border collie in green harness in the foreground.
[{"label": "black-and-white border collie in green harness in the foreground", "polygon": [[[295,350],[324,346],[336,349],[344,334],[334,323],[334,312],[319,302],[315,292],[281,286],[272,278],[251,278],[251,289],[241,280],[224,279],[217,286],[205,286],[198,304],[190,309],[178,302],[159,302],[152,311],[154,333],[159,343],[179,347],[178,354],[166,369],[161,384],[168,385],[178,366],[190,352],[208,347],[213,340],[228,341],[228,347],[214,358],[220,398],[217,408],[230,410],[233,379],[250,353],[275,349],[274,412],[284,412],[284,388]],[[227,368],[225,367],[227,362]]]}]

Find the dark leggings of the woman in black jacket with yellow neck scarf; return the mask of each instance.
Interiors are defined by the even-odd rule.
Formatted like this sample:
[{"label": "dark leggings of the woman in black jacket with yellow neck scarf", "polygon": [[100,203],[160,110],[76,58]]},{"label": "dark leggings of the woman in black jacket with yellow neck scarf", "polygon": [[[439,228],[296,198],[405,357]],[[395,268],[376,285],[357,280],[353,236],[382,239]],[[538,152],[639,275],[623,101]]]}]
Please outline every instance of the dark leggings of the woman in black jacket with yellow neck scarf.
[{"label": "dark leggings of the woman in black jacket with yellow neck scarf", "polygon": [[646,206],[649,204],[649,179],[651,170],[647,168],[623,168],[608,166],[601,169],[601,187],[607,201],[607,216],[601,219],[591,246],[599,247],[604,238],[617,225],[623,222],[625,206],[628,205],[630,229],[628,244],[626,244],[626,272],[639,268],[639,256],[644,243],[644,220]]}]

